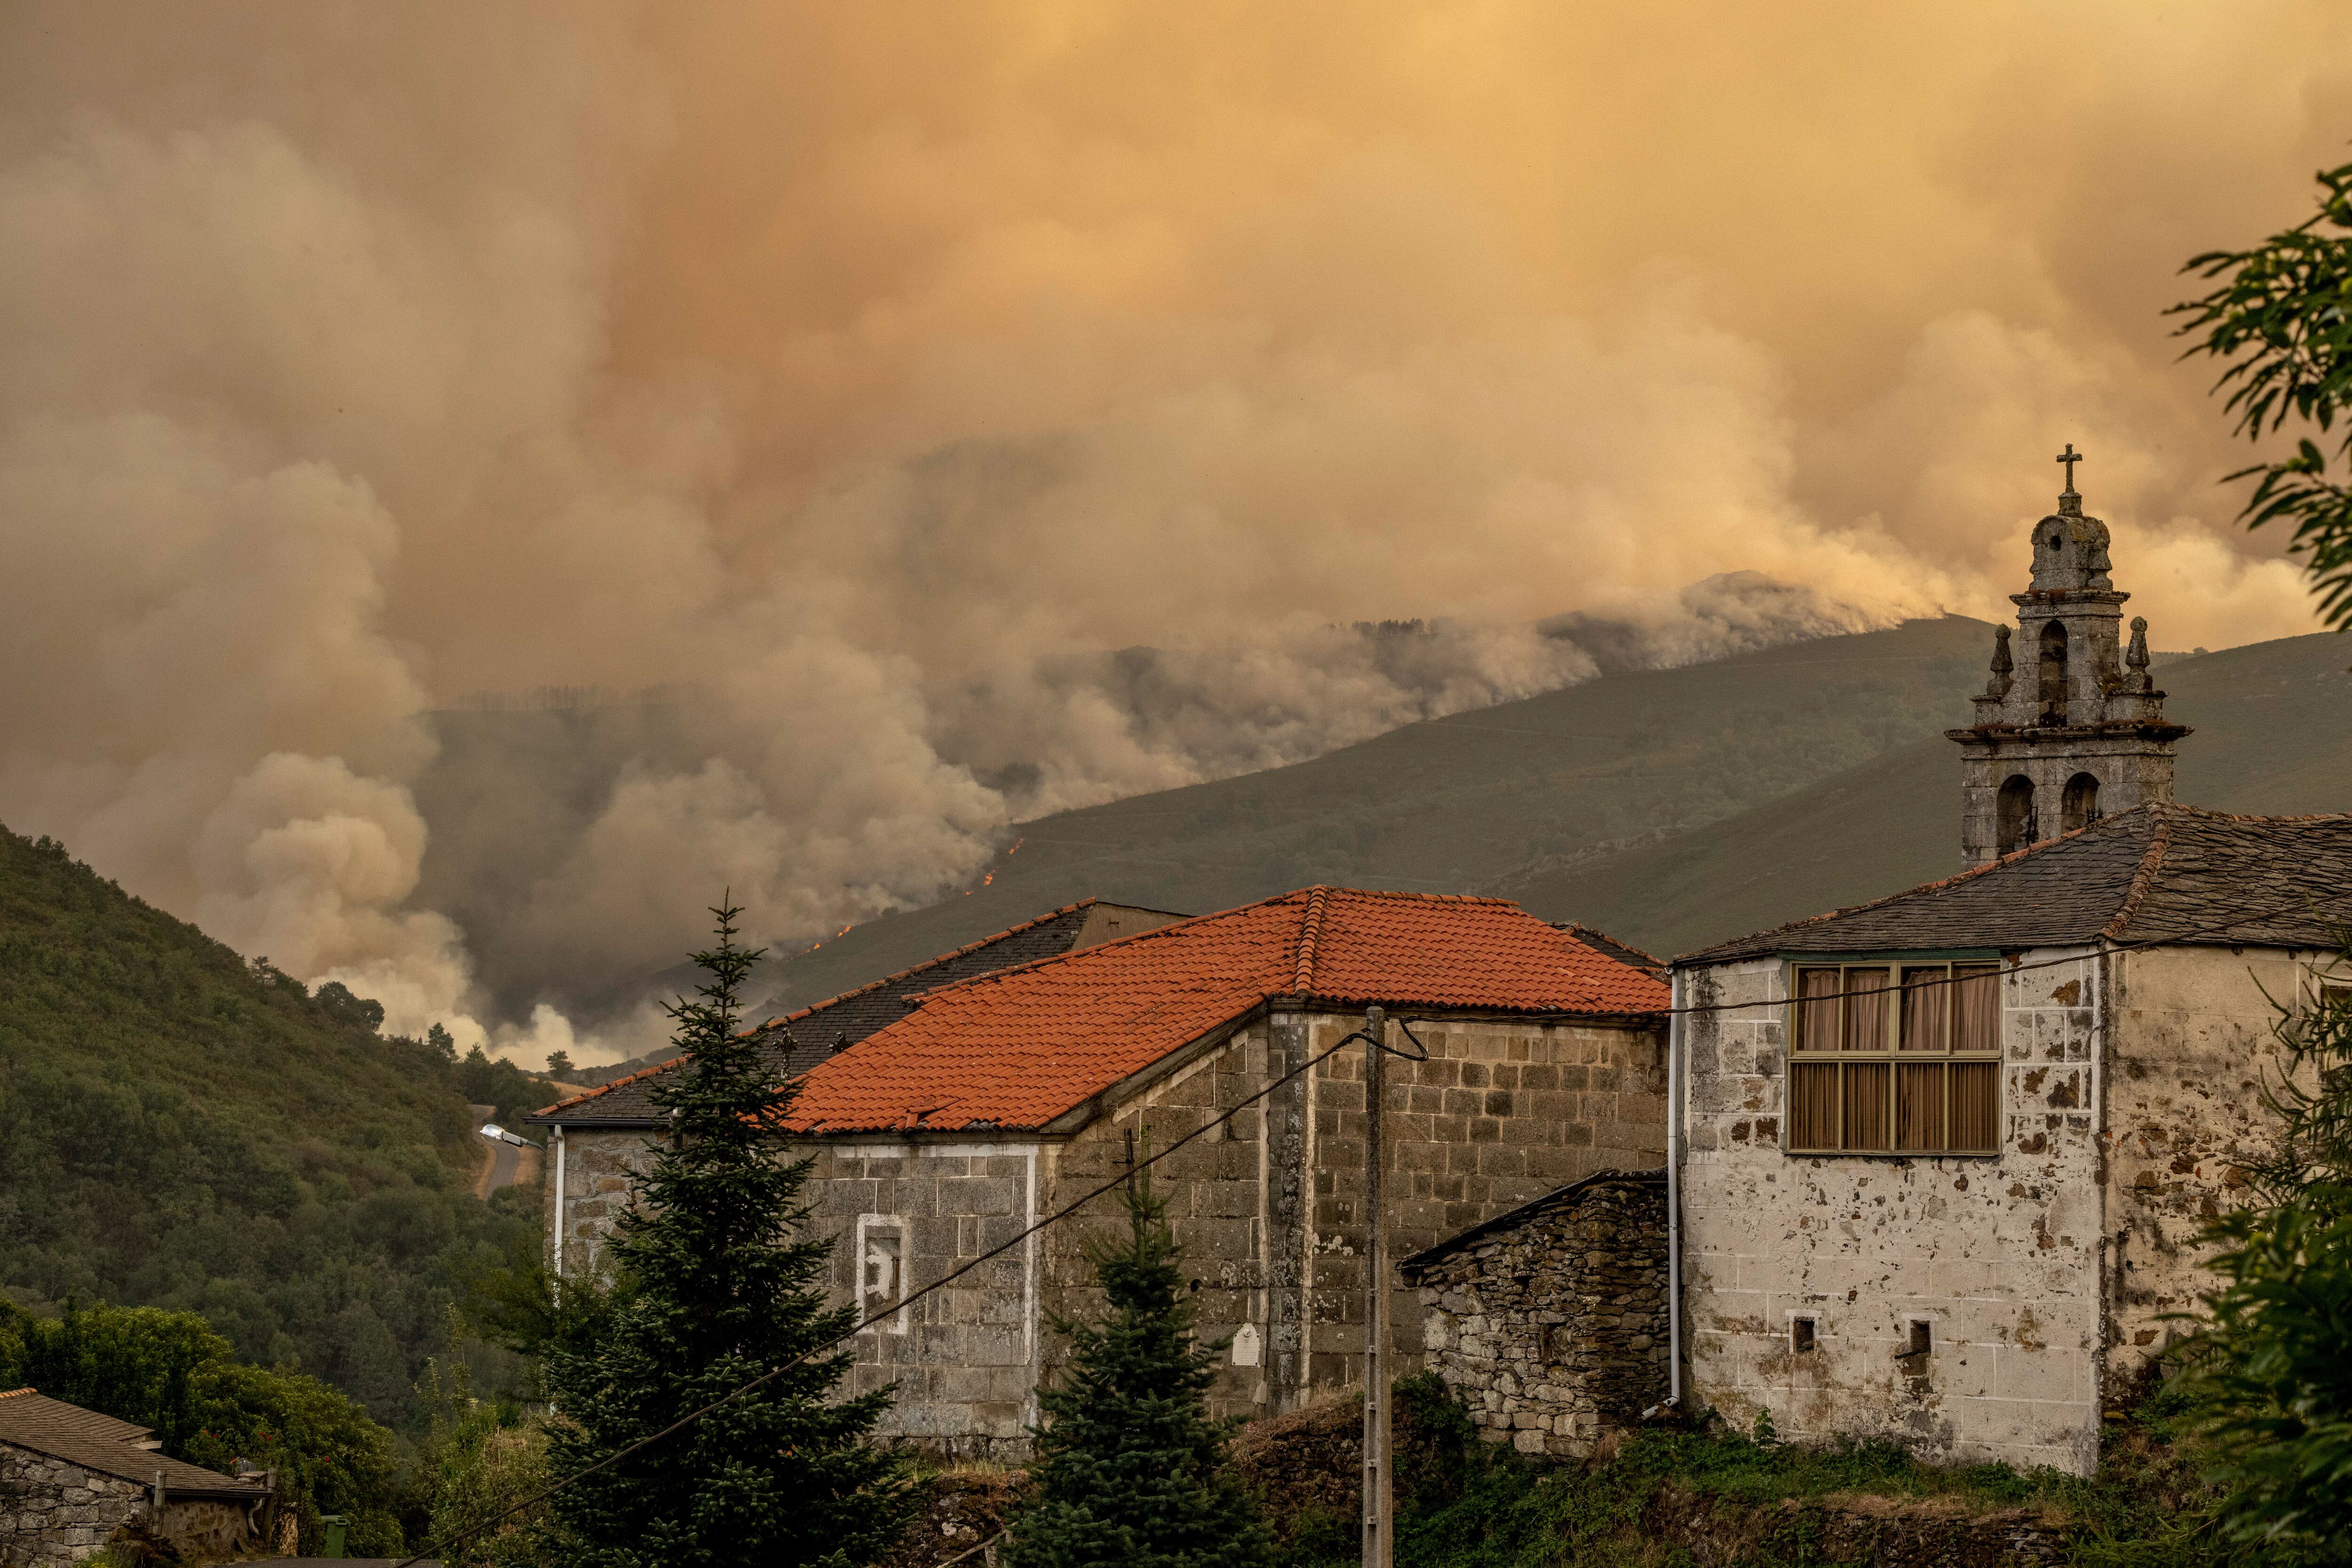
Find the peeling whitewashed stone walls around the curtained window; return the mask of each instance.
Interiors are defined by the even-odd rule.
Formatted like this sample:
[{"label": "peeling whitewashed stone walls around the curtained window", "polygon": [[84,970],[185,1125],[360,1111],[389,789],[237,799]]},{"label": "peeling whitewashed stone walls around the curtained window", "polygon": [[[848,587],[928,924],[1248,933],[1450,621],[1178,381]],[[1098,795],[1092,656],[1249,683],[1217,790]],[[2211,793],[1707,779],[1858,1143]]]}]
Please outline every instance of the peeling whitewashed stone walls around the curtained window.
[{"label": "peeling whitewashed stone walls around the curtained window", "polygon": [[[1997,1157],[1785,1157],[1785,969],[1696,971],[1684,1312],[1693,1396],[1785,1436],[1898,1436],[1931,1458],[2089,1474],[2100,1413],[2209,1286],[2194,1237],[2267,1145],[2272,999],[2324,954],[2037,950],[2002,983]],[[2105,992],[2100,992],[2105,985]],[[1818,1349],[1790,1349],[1790,1319]],[[1936,1352],[1896,1359],[1910,1319]]]}]

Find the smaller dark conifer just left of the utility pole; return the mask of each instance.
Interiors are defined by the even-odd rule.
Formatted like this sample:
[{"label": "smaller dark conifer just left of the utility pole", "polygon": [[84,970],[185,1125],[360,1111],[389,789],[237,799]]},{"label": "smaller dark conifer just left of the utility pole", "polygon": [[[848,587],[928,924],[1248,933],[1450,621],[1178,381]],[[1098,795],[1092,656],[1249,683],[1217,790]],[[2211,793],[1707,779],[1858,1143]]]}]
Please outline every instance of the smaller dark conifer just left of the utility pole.
[{"label": "smaller dark conifer just left of the utility pole", "polygon": [[1089,1248],[1101,1324],[1070,1338],[1061,1387],[1040,1389],[1035,1502],[1009,1568],[1240,1568],[1268,1561],[1256,1505],[1225,1472],[1230,1425],[1209,1420],[1216,1345],[1192,1338],[1192,1300],[1167,1204],[1150,1178],[1124,1187],[1127,1237]]}]

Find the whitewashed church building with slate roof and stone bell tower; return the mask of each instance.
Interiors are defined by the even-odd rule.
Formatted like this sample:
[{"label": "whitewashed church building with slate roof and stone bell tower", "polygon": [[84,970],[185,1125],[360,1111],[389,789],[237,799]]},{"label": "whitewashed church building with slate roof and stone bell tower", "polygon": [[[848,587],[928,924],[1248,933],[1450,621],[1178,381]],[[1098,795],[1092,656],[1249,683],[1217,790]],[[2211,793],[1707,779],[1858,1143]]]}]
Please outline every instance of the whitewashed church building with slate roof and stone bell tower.
[{"label": "whitewashed church building with slate roof and stone bell tower", "polygon": [[1736,1422],[2091,1474],[2267,1138],[2274,1004],[2352,1006],[2352,816],[2173,804],[2072,480],[2032,550],[1950,731],[1973,870],[1672,964],[1672,1338]]}]

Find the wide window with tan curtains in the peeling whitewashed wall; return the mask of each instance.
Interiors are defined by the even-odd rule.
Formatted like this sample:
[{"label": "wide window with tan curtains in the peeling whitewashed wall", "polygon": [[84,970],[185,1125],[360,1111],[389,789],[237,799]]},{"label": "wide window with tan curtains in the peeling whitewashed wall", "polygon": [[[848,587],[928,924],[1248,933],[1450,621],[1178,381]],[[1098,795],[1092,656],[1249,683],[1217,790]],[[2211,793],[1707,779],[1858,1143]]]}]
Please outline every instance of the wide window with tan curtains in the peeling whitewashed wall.
[{"label": "wide window with tan curtains in the peeling whitewashed wall", "polygon": [[1999,1150],[1999,964],[1797,964],[1790,997],[1790,1154]]}]

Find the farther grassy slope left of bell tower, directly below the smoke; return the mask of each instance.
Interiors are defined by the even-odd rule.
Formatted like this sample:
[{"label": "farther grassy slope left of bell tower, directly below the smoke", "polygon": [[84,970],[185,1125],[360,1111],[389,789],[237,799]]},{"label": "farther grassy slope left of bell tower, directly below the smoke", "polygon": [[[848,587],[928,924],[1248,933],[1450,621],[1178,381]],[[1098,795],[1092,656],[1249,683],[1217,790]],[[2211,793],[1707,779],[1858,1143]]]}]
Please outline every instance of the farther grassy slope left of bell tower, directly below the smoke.
[{"label": "farther grassy slope left of bell tower, directly below the smoke", "polygon": [[814,1001],[1075,898],[1207,914],[1315,882],[1482,891],[1722,820],[1959,724],[1992,628],[1950,616],[1406,724],[1265,773],[1023,823],[993,882],[779,964]]}]

